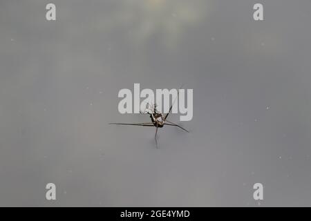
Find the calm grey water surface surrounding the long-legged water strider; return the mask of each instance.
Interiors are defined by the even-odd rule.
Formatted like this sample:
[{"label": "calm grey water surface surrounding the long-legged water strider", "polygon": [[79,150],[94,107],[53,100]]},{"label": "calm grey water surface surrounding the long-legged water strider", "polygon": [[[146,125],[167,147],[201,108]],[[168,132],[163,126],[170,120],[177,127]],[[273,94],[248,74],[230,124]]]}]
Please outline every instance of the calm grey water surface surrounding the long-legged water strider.
[{"label": "calm grey water surface surrounding the long-legged water strider", "polygon": [[[0,206],[311,206],[311,1],[254,3],[1,0]],[[109,125],[134,83],[191,132]]]}]

